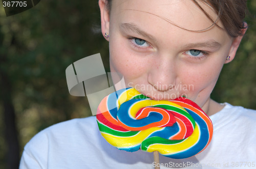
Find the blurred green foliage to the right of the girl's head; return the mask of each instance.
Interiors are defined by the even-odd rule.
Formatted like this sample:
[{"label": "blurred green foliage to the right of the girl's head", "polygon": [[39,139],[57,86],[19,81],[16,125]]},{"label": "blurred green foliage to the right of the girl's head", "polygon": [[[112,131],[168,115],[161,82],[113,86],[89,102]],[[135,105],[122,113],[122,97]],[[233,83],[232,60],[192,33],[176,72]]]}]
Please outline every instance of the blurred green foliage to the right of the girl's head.
[{"label": "blurred green foliage to the right of the girl's head", "polygon": [[256,109],[256,1],[247,1],[249,27],[236,58],[224,65],[211,98]]}]

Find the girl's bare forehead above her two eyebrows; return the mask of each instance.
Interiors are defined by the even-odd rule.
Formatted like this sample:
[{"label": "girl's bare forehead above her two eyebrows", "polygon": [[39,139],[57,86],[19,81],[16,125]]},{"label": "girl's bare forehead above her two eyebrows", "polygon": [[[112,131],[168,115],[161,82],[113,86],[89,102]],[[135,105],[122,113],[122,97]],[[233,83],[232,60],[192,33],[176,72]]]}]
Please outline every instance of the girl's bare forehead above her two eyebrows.
[{"label": "girl's bare forehead above her two eyebrows", "polygon": [[[203,10],[216,21],[218,14],[209,5],[198,1]],[[213,24],[192,0],[114,0],[111,13],[115,19],[160,19],[185,30],[204,30]],[[113,16],[112,15],[112,16]],[[222,26],[220,22],[218,25]]]}]

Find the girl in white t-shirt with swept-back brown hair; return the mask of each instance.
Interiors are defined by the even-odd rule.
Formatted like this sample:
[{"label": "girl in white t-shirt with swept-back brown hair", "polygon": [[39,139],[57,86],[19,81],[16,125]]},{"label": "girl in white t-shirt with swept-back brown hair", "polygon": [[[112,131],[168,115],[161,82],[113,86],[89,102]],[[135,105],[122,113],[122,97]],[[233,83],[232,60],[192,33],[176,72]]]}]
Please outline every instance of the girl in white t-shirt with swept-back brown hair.
[{"label": "girl in white t-shirt with swept-back brown hair", "polygon": [[[214,124],[208,148],[187,159],[160,156],[161,168],[255,166],[256,111],[210,99],[246,32],[246,1],[99,0],[99,7],[111,72],[155,100],[185,95]],[[109,145],[90,117],[41,131],[26,145],[20,168],[153,168],[152,162],[152,153]]]}]

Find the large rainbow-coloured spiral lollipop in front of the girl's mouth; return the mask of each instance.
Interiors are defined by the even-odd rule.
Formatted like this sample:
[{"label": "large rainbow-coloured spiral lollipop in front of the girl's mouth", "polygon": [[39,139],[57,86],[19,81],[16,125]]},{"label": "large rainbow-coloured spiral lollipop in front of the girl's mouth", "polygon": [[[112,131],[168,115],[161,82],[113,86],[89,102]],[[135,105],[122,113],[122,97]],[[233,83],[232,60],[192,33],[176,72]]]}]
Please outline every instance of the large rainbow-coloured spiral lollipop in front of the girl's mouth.
[{"label": "large rainbow-coloured spiral lollipop in front of the girl's mouth", "polygon": [[213,132],[209,117],[193,101],[156,101],[134,88],[106,96],[98,106],[97,122],[101,135],[120,150],[158,151],[170,158],[200,153]]}]

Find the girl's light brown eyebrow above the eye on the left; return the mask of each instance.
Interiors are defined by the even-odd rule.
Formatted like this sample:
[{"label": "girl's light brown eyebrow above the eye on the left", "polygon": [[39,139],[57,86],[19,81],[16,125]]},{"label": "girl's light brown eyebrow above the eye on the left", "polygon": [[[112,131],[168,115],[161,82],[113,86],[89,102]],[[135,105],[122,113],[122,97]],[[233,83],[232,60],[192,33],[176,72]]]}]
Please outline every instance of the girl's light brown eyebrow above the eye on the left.
[{"label": "girl's light brown eyebrow above the eye on the left", "polygon": [[136,34],[139,34],[139,35],[141,35],[145,38],[156,41],[155,37],[153,37],[152,35],[144,32],[144,31],[142,31],[137,25],[135,25],[133,23],[121,23],[119,28],[120,28],[121,32],[136,33]]}]

